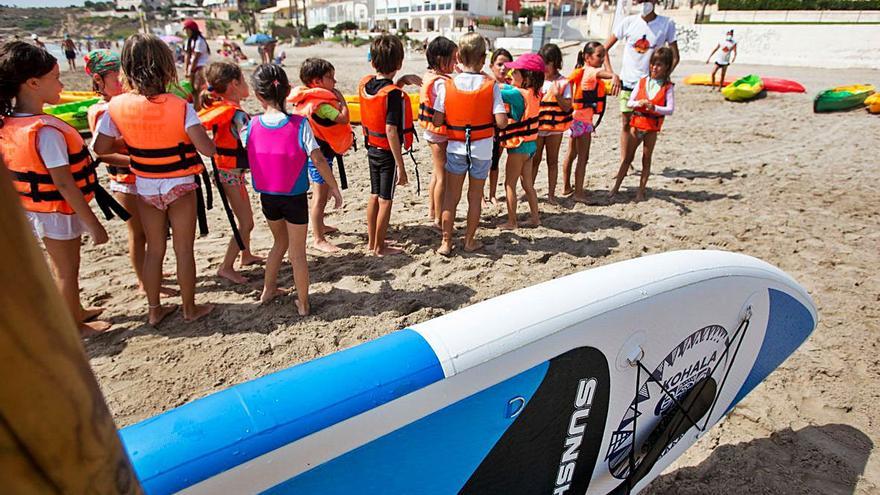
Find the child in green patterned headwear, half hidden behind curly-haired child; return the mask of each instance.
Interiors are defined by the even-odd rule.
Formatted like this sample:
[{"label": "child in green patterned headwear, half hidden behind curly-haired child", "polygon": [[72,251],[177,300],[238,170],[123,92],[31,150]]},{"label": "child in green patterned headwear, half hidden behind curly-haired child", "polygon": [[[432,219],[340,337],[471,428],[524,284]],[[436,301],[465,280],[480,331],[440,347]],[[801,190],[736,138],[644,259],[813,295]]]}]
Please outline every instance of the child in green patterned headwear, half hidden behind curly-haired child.
[{"label": "child in green patterned headwear, half hidden behind curly-haired child", "polygon": [[[119,82],[119,55],[110,50],[93,50],[86,54],[86,74],[92,78],[92,90],[101,95],[102,100],[89,107],[89,130],[95,133],[98,119],[107,111],[110,99],[122,94],[122,83]],[[100,155],[96,162],[107,166],[110,178],[110,191],[120,204],[129,212],[131,218],[126,222],[128,227],[128,257],[138,279],[138,287],[144,290],[144,251],[147,237],[138,213],[137,188],[134,174],[129,169],[129,157],[125,153]],[[163,294],[176,295],[177,291],[162,287]]]}]

